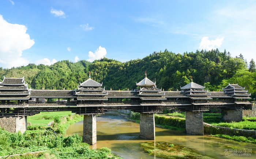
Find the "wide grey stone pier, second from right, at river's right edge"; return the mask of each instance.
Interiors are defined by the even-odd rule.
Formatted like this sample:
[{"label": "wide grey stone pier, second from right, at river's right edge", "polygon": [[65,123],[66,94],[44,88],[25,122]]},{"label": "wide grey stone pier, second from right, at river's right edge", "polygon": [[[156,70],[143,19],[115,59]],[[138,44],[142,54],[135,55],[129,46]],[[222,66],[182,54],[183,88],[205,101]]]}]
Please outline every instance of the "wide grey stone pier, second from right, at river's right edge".
[{"label": "wide grey stone pier, second from right, at river's right edge", "polygon": [[203,112],[186,111],[186,131],[193,135],[203,135]]}]

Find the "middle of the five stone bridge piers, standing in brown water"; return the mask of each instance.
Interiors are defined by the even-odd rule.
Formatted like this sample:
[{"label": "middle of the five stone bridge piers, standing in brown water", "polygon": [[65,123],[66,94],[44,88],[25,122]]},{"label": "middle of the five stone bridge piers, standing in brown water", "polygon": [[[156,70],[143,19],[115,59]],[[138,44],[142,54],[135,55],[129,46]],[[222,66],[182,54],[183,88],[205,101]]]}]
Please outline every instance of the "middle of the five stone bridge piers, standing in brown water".
[{"label": "middle of the five stone bridge piers, standing in brown water", "polygon": [[155,140],[154,113],[140,113],[140,137]]}]

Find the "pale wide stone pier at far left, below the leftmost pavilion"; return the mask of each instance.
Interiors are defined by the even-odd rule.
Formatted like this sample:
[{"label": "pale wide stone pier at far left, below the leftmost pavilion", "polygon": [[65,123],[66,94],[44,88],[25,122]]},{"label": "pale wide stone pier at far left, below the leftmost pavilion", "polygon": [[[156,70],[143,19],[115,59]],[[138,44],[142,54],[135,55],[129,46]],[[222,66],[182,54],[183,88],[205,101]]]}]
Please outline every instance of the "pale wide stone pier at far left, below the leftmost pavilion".
[{"label": "pale wide stone pier at far left, below the leftmost pavilion", "polygon": [[27,117],[2,117],[0,127],[9,132],[22,132],[27,129]]}]

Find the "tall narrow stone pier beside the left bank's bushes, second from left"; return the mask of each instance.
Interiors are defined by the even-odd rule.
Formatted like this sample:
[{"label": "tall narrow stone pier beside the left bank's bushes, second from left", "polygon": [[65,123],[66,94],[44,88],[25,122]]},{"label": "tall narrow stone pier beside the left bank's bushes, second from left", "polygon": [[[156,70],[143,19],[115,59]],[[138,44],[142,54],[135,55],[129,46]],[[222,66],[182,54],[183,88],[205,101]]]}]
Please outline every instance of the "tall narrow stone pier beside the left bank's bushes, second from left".
[{"label": "tall narrow stone pier beside the left bank's bushes, second from left", "polygon": [[96,115],[83,116],[83,141],[91,145],[97,143]]}]

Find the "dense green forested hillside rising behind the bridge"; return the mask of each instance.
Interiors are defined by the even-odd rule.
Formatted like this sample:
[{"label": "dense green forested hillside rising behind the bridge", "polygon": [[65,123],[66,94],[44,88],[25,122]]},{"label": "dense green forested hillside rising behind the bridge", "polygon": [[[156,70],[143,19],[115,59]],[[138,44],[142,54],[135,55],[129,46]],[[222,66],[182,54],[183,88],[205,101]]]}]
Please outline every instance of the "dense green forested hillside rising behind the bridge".
[{"label": "dense green forested hillside rising behind the bridge", "polygon": [[256,70],[253,59],[249,68],[243,56],[232,58],[226,50],[196,51],[195,53],[175,54],[165,50],[153,53],[143,59],[119,62],[103,58],[94,62],[72,63],[60,61],[51,66],[29,64],[12,69],[0,68],[3,77],[23,77],[34,89],[75,89],[79,82],[87,80],[89,71],[93,80],[103,82],[106,89],[131,90],[136,83],[147,77],[156,79],[158,88],[180,89],[193,81],[205,85],[209,90],[218,91],[228,83],[245,86],[256,97]]}]

